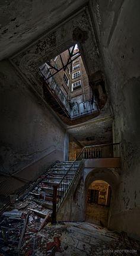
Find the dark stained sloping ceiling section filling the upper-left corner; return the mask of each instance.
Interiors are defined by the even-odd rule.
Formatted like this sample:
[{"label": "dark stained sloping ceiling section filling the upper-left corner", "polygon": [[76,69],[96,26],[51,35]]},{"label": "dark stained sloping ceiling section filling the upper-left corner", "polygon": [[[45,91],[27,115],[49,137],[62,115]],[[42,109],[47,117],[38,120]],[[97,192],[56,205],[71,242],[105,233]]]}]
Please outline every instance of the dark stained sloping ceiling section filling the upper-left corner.
[{"label": "dark stained sloping ceiling section filling the upper-left corner", "polygon": [[0,1],[0,60],[24,48],[87,2],[87,0]]}]

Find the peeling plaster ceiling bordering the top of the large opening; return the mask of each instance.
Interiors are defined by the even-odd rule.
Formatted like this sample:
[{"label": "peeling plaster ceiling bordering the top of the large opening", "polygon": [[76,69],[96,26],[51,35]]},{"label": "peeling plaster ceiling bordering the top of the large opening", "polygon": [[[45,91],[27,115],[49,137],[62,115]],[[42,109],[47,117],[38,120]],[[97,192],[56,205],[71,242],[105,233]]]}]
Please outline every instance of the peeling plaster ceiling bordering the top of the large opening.
[{"label": "peeling plaster ceiling bordering the top of the large opening", "polygon": [[[38,67],[75,43],[78,43],[81,49],[81,56],[84,53],[88,59],[88,63],[85,63],[88,72],[101,70],[96,38],[86,10],[86,8],[80,10],[74,17],[71,15],[71,18],[66,19],[59,27],[46,31],[38,40],[10,58],[12,64],[26,76],[41,96],[43,96],[42,79],[40,80]],[[79,28],[82,34],[86,34],[86,40],[82,42],[74,36]]]}]

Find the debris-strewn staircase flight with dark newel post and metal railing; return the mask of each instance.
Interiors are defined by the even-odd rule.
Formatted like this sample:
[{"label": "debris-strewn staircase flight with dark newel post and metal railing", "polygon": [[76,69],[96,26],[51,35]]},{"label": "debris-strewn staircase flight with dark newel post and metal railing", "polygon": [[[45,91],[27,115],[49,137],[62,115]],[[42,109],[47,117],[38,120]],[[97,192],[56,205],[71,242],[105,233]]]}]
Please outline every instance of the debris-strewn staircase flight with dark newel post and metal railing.
[{"label": "debris-strewn staircase flight with dark newel post and metal railing", "polygon": [[[28,209],[49,213],[48,217],[52,217],[52,223],[56,222],[56,213],[61,207],[61,204],[69,191],[72,182],[77,176],[77,171],[81,168],[82,161],[66,161],[55,162],[47,170],[44,175],[38,179],[37,185],[19,198],[18,201],[31,201],[28,204]],[[34,213],[37,213],[36,210]]]}]

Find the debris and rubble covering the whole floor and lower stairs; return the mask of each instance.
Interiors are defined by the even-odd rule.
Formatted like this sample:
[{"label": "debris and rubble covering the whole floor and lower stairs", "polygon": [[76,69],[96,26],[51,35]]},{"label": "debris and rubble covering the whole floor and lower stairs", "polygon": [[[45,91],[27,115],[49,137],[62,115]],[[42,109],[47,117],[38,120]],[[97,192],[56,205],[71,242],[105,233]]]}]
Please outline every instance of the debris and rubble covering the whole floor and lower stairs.
[{"label": "debris and rubble covering the whole floor and lower stairs", "polygon": [[42,185],[44,178],[31,184],[20,197],[12,195],[13,203],[1,214],[0,256],[120,256],[126,251],[127,255],[140,255],[140,243],[124,232],[87,222],[52,225],[52,208],[47,201],[51,195],[42,190],[47,186]]}]

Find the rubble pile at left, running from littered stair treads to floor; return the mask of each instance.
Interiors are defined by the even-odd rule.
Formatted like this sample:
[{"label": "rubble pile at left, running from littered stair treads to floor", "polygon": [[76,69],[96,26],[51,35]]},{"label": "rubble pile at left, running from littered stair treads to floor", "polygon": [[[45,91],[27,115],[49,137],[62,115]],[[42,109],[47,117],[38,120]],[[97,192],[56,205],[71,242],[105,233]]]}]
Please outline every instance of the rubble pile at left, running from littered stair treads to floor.
[{"label": "rubble pile at left, running from littered stair treads to floor", "polygon": [[11,204],[0,218],[0,256],[30,256],[35,252],[36,255],[50,255],[50,252],[61,251],[59,236],[64,229],[53,229],[50,223],[53,201],[50,177],[53,172],[57,175],[56,169],[52,166],[21,195],[10,196]]}]

